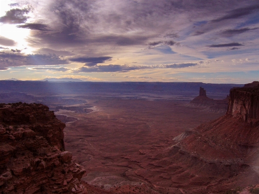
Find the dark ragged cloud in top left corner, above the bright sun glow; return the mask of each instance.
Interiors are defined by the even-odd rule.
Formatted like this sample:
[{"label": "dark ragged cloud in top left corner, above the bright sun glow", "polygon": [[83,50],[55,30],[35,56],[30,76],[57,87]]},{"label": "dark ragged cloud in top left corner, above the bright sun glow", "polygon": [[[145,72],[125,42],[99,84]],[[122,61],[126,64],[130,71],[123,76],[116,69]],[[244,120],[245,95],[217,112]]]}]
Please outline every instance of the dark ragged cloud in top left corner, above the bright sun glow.
[{"label": "dark ragged cloud in top left corner, above the bright sun glow", "polygon": [[11,9],[6,12],[5,16],[0,17],[1,23],[9,23],[9,24],[19,24],[25,23],[25,21],[29,18],[24,16],[30,12],[29,9]]}]

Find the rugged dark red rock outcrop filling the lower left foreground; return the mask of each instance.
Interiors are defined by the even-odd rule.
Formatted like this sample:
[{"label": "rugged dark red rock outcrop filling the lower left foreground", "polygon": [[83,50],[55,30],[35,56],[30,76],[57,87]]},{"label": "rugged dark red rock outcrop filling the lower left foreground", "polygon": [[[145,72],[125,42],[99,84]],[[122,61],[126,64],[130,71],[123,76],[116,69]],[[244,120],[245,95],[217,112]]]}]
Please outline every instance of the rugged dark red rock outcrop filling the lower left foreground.
[{"label": "rugged dark red rock outcrop filling the lower left foreground", "polygon": [[41,104],[0,104],[0,192],[83,193],[85,170],[64,148],[64,123]]}]

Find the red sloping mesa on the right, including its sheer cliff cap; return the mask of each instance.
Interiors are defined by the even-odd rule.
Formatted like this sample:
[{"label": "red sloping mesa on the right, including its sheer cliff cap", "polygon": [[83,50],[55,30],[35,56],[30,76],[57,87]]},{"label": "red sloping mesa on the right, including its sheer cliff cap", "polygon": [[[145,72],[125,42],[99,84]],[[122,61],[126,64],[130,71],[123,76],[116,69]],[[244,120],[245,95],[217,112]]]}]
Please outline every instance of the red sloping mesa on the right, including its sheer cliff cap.
[{"label": "red sloping mesa on the right, including its sheer cliff cap", "polygon": [[175,140],[174,187],[200,194],[259,184],[259,88],[231,89],[226,115]]}]

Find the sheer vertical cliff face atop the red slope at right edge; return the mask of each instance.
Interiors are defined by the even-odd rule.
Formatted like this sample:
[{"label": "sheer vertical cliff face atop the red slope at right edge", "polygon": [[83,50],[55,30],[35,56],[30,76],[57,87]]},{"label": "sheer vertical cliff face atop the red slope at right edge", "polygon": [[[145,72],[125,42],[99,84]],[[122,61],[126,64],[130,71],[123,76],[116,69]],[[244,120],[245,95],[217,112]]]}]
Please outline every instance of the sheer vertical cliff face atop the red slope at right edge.
[{"label": "sheer vertical cliff face atop the red slope at right edge", "polygon": [[233,117],[241,117],[247,123],[259,121],[259,86],[232,88],[227,113]]}]

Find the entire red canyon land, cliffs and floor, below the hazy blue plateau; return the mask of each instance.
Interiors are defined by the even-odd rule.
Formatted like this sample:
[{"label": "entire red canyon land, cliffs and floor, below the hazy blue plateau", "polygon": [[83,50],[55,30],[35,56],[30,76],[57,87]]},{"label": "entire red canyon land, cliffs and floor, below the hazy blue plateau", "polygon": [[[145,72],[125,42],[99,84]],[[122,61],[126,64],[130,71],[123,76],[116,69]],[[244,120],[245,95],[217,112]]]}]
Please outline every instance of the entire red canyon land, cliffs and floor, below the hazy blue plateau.
[{"label": "entire red canyon land, cliffs and floor, below the hazy blue plateau", "polygon": [[[259,186],[258,82],[232,88],[224,111],[190,106],[188,95],[118,95],[66,95],[79,103],[52,101],[56,116],[40,104],[0,104],[0,191],[249,194]],[[193,98],[222,101],[202,87]]]}]

